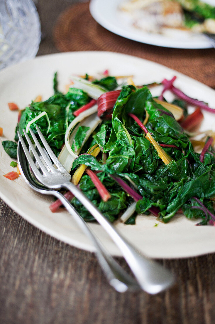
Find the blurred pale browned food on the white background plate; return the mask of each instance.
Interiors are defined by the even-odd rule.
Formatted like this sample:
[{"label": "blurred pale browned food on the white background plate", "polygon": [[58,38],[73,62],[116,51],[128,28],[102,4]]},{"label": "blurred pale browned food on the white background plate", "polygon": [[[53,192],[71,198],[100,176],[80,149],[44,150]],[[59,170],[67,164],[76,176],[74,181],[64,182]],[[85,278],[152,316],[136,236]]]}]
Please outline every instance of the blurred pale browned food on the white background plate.
[{"label": "blurred pale browned food on the white background plate", "polygon": [[[194,32],[208,31],[214,33],[215,19],[213,15],[211,18],[205,19],[203,23],[197,22],[191,29],[185,27],[183,5],[189,10],[189,5],[192,4],[193,8],[197,2],[198,5],[202,4],[200,0],[129,0],[123,2],[119,8],[131,17],[134,27],[147,32],[166,33],[168,29],[172,28],[183,32],[192,30]],[[215,10],[215,7],[209,5],[205,6],[204,4],[203,7],[204,12],[207,11],[206,13],[208,13],[206,9],[211,9],[211,14]]]}]

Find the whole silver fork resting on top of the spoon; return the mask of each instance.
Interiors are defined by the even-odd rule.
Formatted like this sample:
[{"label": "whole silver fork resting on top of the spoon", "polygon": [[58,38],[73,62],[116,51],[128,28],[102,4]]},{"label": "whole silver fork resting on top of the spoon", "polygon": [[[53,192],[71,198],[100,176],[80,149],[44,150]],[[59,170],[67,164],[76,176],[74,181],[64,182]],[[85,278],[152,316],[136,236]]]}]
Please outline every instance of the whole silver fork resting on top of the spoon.
[{"label": "whole silver fork resting on top of the spoon", "polygon": [[47,158],[44,149],[39,144],[35,134],[30,129],[31,136],[34,143],[43,157],[43,160],[39,157],[34,145],[32,144],[26,131],[23,129],[23,133],[26,137],[27,143],[34,155],[36,162],[39,165],[40,170],[36,167],[36,164],[31,157],[25,142],[18,133],[20,143],[25,152],[27,161],[37,178],[37,180],[44,186],[50,189],[66,188],[70,190],[74,196],[86,207],[86,209],[95,217],[98,223],[107,231],[109,236],[118,246],[125,260],[127,261],[131,271],[133,272],[140,287],[149,294],[157,294],[160,291],[168,288],[174,282],[174,275],[166,268],[161,266],[158,262],[155,262],[146,256],[144,256],[138,249],[132,246],[121,234],[118,233],[116,228],[108,221],[108,219],[96,208],[96,206],[89,201],[89,199],[80,191],[73,183],[70,182],[71,175],[59,162],[50,146],[46,142],[39,128],[36,126],[37,133],[46,149],[47,154],[50,156],[55,167]]}]

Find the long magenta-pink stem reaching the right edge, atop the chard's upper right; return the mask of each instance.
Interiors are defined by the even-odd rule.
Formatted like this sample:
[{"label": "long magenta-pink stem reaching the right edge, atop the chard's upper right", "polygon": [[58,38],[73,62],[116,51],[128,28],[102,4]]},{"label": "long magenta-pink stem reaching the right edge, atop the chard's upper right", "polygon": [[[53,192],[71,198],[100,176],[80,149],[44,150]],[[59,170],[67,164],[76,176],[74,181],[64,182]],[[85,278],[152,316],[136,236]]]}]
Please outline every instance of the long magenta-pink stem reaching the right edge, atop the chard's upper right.
[{"label": "long magenta-pink stem reaching the right edge, atop the chard's upper right", "polygon": [[200,107],[203,110],[210,111],[213,114],[215,114],[215,109],[208,107],[208,105],[205,104],[203,101],[199,101],[198,99],[194,99],[194,98],[191,98],[191,97],[187,96],[180,89],[174,87],[173,85],[166,88],[166,85],[169,86],[169,83],[168,82],[169,81],[167,79],[164,79],[162,81],[162,84],[165,87],[165,91],[166,90],[170,90],[174,95],[176,95],[176,97],[178,97],[179,99],[182,99],[182,100],[186,101],[190,105]]}]

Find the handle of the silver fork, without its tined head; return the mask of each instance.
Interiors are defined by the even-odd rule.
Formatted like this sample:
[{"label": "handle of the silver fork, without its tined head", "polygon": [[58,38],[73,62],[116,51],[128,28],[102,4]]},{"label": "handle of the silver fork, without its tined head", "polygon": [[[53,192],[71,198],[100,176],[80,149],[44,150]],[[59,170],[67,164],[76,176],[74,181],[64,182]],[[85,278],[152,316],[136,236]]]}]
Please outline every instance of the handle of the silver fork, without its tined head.
[{"label": "handle of the silver fork, without its tined head", "polygon": [[140,287],[149,294],[157,294],[168,288],[174,282],[174,275],[158,262],[148,259],[134,246],[132,246],[97,207],[73,183],[65,182],[61,187],[70,190],[74,196],[95,217],[98,223],[106,230],[118,246],[131,271],[136,277]]}]

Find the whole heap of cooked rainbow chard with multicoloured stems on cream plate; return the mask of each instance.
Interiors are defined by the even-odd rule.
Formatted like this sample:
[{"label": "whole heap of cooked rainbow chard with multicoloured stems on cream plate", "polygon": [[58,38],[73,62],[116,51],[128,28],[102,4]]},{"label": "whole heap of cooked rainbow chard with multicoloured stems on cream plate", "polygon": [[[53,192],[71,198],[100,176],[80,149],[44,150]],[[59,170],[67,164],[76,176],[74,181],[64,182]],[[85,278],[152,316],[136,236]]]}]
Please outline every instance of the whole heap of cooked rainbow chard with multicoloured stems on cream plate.
[{"label": "whole heap of cooked rainbow chard with multicoloured stems on cream plate", "polygon": [[[36,133],[37,123],[54,152],[61,152],[61,161],[69,161],[73,182],[111,222],[122,215],[123,222],[134,224],[137,214],[152,213],[166,223],[182,209],[186,217],[200,218],[198,225],[215,224],[215,136],[204,134],[201,153],[190,141],[190,130],[202,120],[200,109],[215,110],[185,95],[175,79],[162,81],[157,99],[146,86],[128,84],[113,91],[118,85],[110,76],[101,83],[78,78],[81,89],[76,83],[63,94],[55,76],[55,94],[26,107],[17,129],[31,127]],[[102,93],[86,109],[92,100],[88,89],[95,85]],[[163,97],[167,90],[176,96],[173,103]],[[187,116],[187,102],[199,107],[194,118]],[[86,221],[94,220],[73,196],[71,203]]]}]

